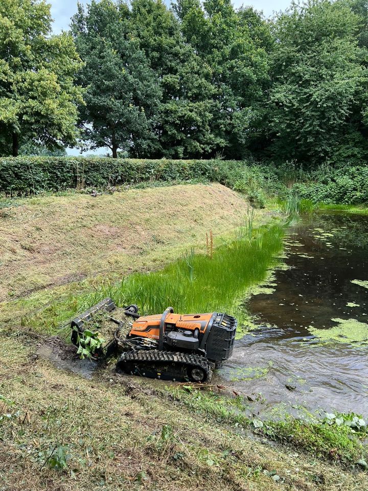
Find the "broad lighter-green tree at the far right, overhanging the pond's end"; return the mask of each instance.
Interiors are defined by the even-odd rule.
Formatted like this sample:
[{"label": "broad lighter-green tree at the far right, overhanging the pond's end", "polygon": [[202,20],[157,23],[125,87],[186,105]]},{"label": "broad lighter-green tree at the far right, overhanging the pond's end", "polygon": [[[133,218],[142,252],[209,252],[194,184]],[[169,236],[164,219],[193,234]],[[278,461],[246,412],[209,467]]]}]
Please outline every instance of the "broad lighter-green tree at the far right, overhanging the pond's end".
[{"label": "broad lighter-green tree at the far right, overhanging the pond's end", "polygon": [[280,160],[333,162],[340,151],[340,158],[349,159],[357,145],[366,146],[359,24],[344,0],[292,4],[275,20],[270,131],[271,152]]}]

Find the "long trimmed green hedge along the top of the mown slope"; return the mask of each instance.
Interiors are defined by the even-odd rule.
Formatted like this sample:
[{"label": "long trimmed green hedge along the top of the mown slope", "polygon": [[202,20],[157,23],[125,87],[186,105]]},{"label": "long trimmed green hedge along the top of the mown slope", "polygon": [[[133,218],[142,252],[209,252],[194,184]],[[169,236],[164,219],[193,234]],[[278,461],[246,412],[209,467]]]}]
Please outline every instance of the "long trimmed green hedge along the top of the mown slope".
[{"label": "long trimmed green hedge along the top of the mown slope", "polygon": [[272,166],[219,160],[140,160],[108,157],[0,158],[0,193],[7,196],[103,188],[122,184],[215,181],[245,192],[256,206],[266,195],[285,193]]}]

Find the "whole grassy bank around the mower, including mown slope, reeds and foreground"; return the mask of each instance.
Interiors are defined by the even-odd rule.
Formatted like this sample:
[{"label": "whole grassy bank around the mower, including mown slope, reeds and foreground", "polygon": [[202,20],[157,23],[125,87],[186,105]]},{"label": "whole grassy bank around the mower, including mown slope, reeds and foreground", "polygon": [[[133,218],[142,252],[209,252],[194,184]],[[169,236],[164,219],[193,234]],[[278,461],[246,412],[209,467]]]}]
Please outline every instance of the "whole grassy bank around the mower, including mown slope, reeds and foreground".
[{"label": "whole grassy bank around the mower, including mown slope, reeds and foreground", "polygon": [[[59,329],[64,321],[106,295],[120,305],[136,302],[145,313],[171,304],[177,311],[219,308],[239,315],[246,289],[264,279],[282,247],[283,228],[267,210],[247,217],[246,202],[220,185],[30,199],[6,209],[14,214],[6,218],[11,228],[6,238],[12,241],[18,233],[21,240],[39,220],[44,238],[34,232],[28,238],[35,250],[26,259],[19,254],[20,265],[9,261],[6,267],[26,279],[37,267],[50,277],[54,267],[72,265],[78,272],[89,263],[91,269],[81,281],[54,281],[31,294],[19,282],[18,298],[8,296],[1,304],[4,489],[368,488],[361,472],[367,461],[365,429],[354,433],[329,418],[262,421],[245,394],[119,375],[113,360],[97,370],[85,360],[82,369],[77,361],[70,364],[72,347],[60,339],[70,333],[68,327]],[[119,232],[106,236],[112,227]],[[85,229],[89,235],[79,244]],[[60,250],[39,264],[37,248],[53,239]],[[122,244],[124,251],[118,249]],[[144,252],[137,252],[137,244]],[[114,254],[120,259],[113,260]],[[94,274],[92,268],[102,265],[103,274]],[[3,278],[8,281],[6,274]]]}]

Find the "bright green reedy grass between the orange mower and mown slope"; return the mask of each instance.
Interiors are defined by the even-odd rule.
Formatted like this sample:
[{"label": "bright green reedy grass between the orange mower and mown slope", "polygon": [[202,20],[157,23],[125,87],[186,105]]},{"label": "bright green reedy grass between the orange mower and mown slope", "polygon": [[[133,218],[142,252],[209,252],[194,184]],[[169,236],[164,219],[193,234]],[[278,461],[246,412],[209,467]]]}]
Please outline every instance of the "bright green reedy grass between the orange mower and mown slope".
[{"label": "bright green reedy grass between the orange mower and mown slope", "polygon": [[250,227],[248,222],[235,240],[214,251],[209,245],[206,255],[192,249],[162,271],[136,273],[120,283],[103,285],[86,299],[84,307],[108,296],[119,306],[137,304],[142,315],[172,306],[179,313],[218,310],[241,316],[239,305],[246,289],[265,278],[284,236],[279,224],[257,229],[251,237]]}]

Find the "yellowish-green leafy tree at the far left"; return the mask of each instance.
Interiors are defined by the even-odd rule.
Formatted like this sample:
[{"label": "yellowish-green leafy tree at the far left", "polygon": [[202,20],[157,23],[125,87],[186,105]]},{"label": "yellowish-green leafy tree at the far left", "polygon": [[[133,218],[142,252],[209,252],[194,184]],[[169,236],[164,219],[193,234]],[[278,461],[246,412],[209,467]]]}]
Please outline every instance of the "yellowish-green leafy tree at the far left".
[{"label": "yellowish-green leafy tree at the far left", "polygon": [[0,3],[0,140],[14,156],[23,141],[52,148],[76,139],[81,60],[71,36],[51,35],[51,23],[43,0]]}]

